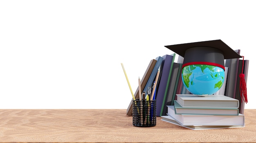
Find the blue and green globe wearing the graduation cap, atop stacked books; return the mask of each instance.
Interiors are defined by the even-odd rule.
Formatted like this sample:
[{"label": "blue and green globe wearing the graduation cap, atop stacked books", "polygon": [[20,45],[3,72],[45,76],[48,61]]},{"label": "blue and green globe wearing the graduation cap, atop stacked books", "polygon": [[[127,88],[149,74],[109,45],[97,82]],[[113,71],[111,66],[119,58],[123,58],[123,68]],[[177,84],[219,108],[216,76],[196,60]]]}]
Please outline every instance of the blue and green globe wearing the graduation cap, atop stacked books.
[{"label": "blue and green globe wearing the graduation cap, atop stacked books", "polygon": [[207,96],[220,90],[224,69],[213,65],[187,65],[182,69],[182,82],[190,93]]}]

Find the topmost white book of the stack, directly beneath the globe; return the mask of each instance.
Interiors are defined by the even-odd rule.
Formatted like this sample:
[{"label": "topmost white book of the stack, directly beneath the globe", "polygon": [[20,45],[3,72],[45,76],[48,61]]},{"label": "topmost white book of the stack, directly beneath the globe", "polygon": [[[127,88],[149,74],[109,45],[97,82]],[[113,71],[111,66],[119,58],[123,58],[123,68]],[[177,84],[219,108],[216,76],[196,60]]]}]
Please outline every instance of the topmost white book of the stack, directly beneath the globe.
[{"label": "topmost white book of the stack, directly beneath the globe", "polygon": [[239,100],[225,95],[198,96],[177,94],[177,102],[182,107],[238,108]]}]

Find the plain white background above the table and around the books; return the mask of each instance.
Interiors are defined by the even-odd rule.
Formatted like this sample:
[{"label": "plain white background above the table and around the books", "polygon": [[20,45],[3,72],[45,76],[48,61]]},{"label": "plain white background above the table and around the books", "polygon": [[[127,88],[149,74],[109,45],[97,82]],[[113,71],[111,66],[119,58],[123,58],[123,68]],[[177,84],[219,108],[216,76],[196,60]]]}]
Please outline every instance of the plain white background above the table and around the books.
[{"label": "plain white background above the table and around the books", "polygon": [[[249,60],[254,0],[1,0],[0,108],[121,108],[164,45],[221,39]],[[177,56],[176,56],[177,57]]]}]

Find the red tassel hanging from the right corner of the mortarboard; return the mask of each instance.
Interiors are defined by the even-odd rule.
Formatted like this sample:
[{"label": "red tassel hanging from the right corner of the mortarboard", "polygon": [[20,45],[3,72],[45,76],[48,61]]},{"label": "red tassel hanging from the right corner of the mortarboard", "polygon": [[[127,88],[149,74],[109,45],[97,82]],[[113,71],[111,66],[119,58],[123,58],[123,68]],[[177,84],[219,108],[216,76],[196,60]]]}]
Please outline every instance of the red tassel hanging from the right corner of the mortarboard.
[{"label": "red tassel hanging from the right corner of the mortarboard", "polygon": [[240,96],[241,99],[244,100],[245,103],[248,102],[247,100],[247,88],[246,88],[246,82],[245,82],[245,74],[243,74],[243,68],[244,68],[244,56],[243,57],[243,65],[242,65],[242,73],[239,74],[240,78]]}]

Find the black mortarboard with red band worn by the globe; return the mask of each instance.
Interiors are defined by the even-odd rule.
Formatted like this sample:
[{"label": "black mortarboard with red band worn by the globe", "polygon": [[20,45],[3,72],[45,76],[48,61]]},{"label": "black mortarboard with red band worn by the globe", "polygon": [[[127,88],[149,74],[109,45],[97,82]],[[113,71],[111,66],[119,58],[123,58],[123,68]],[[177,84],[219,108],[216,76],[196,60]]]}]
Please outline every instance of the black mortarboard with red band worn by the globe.
[{"label": "black mortarboard with red band worn by the globe", "polygon": [[184,57],[183,67],[187,65],[214,65],[225,70],[224,59],[242,58],[221,40],[166,45],[166,48]]}]

